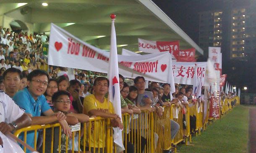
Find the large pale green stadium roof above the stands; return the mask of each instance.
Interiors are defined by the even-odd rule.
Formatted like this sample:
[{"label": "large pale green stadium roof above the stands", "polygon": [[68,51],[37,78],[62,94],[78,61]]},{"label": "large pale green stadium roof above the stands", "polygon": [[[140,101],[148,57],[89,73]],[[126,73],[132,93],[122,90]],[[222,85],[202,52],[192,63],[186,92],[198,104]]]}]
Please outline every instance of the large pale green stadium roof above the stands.
[{"label": "large pale green stadium roof above the stands", "polygon": [[[0,16],[31,23],[49,32],[55,23],[83,41],[110,48],[110,14],[114,13],[118,51],[138,51],[138,38],[180,41],[180,49],[203,50],[151,0],[0,0]],[[48,6],[43,6],[47,3]]]}]

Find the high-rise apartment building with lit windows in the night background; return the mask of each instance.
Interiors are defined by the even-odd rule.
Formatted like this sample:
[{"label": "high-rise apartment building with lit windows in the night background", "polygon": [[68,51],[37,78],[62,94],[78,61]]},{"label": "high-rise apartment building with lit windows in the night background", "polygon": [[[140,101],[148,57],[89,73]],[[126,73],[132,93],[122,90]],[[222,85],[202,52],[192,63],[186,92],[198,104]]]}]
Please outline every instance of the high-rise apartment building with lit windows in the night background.
[{"label": "high-rise apartment building with lit windows in the night background", "polygon": [[256,52],[256,3],[248,7],[199,13],[199,46],[222,47],[231,60],[247,60]]}]

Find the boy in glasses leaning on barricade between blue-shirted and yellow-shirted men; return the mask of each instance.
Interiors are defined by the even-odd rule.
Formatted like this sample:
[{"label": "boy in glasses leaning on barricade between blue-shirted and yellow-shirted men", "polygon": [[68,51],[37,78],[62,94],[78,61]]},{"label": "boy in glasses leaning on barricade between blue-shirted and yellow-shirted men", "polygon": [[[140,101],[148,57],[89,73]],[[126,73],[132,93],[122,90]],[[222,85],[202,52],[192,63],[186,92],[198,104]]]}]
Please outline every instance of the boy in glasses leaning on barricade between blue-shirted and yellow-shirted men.
[{"label": "boy in glasses leaning on barricade between blue-shirted and yellow-shirted men", "polygon": [[[84,122],[89,122],[89,116],[87,116],[86,114],[76,114],[76,113],[69,113],[70,112],[70,108],[71,108],[71,100],[70,100],[70,93],[68,91],[57,91],[56,93],[53,94],[52,96],[52,103],[54,106],[54,112],[63,112],[66,116],[72,116],[72,117],[76,117],[78,119],[78,122],[84,123]],[[58,130],[58,128],[56,128],[56,130]],[[81,130],[84,131],[84,130]],[[58,132],[54,132],[55,133],[55,141],[54,141],[54,152],[57,153],[58,151],[58,137],[59,137],[59,133]],[[78,132],[73,132],[74,135],[74,151],[78,152]],[[68,135],[65,135],[64,133],[61,133],[61,146],[60,146],[60,150],[61,153],[65,153],[65,150],[67,149],[66,146],[66,137]],[[81,135],[82,137],[82,135]],[[71,153],[72,150],[72,139],[68,140],[68,153]]]}]

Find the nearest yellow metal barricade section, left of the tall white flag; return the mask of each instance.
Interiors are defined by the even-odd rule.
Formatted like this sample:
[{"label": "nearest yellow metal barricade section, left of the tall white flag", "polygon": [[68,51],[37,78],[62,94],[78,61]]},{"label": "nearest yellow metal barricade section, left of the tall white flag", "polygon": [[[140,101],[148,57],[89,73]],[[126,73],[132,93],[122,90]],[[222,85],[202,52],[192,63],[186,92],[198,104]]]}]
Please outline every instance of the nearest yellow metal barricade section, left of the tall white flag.
[{"label": "nearest yellow metal barricade section, left of the tall white flag", "polygon": [[[71,137],[62,133],[59,123],[25,127],[17,130],[14,135],[16,137],[24,135],[24,142],[26,143],[28,132],[34,131],[34,133],[37,133],[39,130],[42,130],[42,153],[53,153],[56,151],[60,153],[61,150],[65,150],[66,153],[69,150],[72,153],[75,151],[85,153],[86,150],[91,151],[91,153],[112,153],[112,150],[110,150],[112,137],[110,119],[103,119],[101,117],[90,118],[90,121],[83,125],[81,128],[78,128],[79,124],[73,126]],[[37,134],[34,135],[34,149],[37,150]],[[26,153],[26,148],[24,148],[24,152]]]}]

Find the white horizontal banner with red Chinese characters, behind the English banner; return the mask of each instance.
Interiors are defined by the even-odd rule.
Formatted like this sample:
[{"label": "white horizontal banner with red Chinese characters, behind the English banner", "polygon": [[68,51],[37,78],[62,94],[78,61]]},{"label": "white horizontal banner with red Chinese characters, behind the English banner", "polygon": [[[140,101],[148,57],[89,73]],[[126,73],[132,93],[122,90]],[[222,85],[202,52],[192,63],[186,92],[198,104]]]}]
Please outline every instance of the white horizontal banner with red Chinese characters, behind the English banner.
[{"label": "white horizontal banner with red Chinese characters, behind the English banner", "polygon": [[[127,49],[123,49],[122,54],[130,55],[130,56],[136,55],[141,58],[145,56],[145,55],[131,52]],[[156,54],[154,55],[156,56]],[[172,60],[172,73],[174,75],[174,83],[193,85],[194,76],[195,76],[195,65],[197,65],[196,66],[197,77],[198,77],[198,80],[201,80],[201,76],[203,77],[202,84],[204,86],[206,63],[207,62],[175,62],[174,60]]]}]

